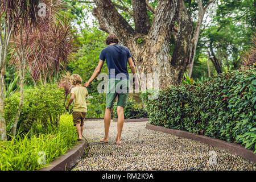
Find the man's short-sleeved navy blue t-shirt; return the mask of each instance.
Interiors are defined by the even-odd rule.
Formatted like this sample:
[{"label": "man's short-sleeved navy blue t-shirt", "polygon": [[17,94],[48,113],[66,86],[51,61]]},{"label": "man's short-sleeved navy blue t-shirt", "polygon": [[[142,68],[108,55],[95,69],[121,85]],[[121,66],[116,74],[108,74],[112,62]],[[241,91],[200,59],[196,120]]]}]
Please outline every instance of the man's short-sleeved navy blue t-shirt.
[{"label": "man's short-sleeved navy blue t-shirt", "polygon": [[100,59],[106,60],[109,68],[109,78],[127,79],[129,75],[127,71],[127,59],[131,56],[129,49],[118,44],[109,45],[102,49]]}]

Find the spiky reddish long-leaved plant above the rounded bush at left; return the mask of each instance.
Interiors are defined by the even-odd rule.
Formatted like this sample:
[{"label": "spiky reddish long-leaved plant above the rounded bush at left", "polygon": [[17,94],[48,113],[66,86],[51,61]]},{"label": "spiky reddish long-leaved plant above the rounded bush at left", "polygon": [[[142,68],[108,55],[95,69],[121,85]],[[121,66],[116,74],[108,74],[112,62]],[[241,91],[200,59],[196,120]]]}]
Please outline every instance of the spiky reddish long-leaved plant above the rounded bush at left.
[{"label": "spiky reddish long-leaved plant above the rounded bush at left", "polygon": [[[41,80],[42,84],[52,82],[60,70],[67,65],[68,57],[75,49],[73,46],[73,28],[68,16],[59,14],[63,1],[43,1],[47,4],[46,16],[38,18],[38,26],[30,31],[29,35],[23,34],[20,41],[16,40],[15,49],[22,49],[22,43],[27,42],[26,63],[27,71],[34,84]],[[15,52],[15,51],[14,51]],[[16,65],[18,59],[14,58]]]}]

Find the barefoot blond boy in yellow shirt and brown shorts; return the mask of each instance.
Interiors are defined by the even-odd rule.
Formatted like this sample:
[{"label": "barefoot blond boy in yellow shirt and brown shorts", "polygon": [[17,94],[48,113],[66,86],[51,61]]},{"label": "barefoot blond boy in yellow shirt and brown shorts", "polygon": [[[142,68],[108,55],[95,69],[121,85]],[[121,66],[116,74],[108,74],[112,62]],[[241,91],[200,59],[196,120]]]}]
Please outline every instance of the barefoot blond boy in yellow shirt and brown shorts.
[{"label": "barefoot blond boy in yellow shirt and brown shorts", "polygon": [[69,78],[71,80],[72,85],[75,87],[71,90],[71,97],[69,99],[68,105],[66,109],[68,109],[69,105],[74,100],[73,106],[73,122],[74,126],[76,126],[76,131],[78,135],[77,140],[82,140],[82,130],[84,127],[85,115],[87,112],[86,106],[86,96],[88,96],[88,91],[85,87],[81,86],[82,78],[80,75],[73,74]]}]

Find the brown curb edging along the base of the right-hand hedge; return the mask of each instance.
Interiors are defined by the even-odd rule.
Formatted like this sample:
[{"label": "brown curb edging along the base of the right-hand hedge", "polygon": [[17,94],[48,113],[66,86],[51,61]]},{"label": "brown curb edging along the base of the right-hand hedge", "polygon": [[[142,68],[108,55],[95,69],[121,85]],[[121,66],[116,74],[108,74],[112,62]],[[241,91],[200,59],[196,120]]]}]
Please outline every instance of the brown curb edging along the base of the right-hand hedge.
[{"label": "brown curb edging along the base of the right-hand hedge", "polygon": [[243,158],[250,160],[250,162],[256,163],[256,154],[254,154],[252,150],[247,150],[245,147],[240,146],[239,144],[226,142],[224,140],[216,138],[206,137],[204,135],[189,133],[188,131],[167,129],[162,126],[155,126],[149,123],[146,123],[146,129],[161,131],[163,133],[175,135],[177,137],[188,138],[210,144],[214,147],[220,148],[221,150],[228,150],[232,154],[240,155]]}]

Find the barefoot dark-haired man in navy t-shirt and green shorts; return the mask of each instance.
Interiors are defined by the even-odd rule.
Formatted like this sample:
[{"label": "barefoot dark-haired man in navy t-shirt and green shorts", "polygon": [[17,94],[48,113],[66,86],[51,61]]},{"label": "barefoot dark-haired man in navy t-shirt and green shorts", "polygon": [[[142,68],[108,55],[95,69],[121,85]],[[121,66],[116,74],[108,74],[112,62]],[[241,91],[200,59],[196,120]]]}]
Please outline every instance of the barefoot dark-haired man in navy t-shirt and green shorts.
[{"label": "barefoot dark-haired man in navy t-shirt and green shorts", "polygon": [[135,76],[135,86],[138,86],[138,78],[136,76],[136,69],[129,49],[125,46],[120,46],[117,36],[110,34],[106,38],[106,45],[108,47],[102,49],[100,54],[100,61],[97,68],[94,70],[92,77],[83,85],[87,87],[96,78],[100,72],[104,61],[109,69],[109,82],[106,94],[106,110],[104,115],[105,137],[100,141],[109,142],[109,126],[111,121],[112,106],[115,97],[117,100],[117,137],[116,144],[121,144],[121,133],[123,129],[123,122],[125,121],[123,115],[123,107],[125,107],[129,94],[129,75],[127,71],[127,61],[130,65],[131,72]]}]

